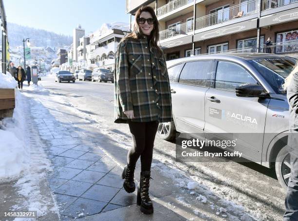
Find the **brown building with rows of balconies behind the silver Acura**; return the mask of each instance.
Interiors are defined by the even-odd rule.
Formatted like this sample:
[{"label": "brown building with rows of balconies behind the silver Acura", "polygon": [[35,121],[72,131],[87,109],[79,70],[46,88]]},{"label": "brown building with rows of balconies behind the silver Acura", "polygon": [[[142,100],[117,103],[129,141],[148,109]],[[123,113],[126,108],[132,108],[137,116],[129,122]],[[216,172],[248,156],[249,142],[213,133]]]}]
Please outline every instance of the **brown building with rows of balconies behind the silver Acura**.
[{"label": "brown building with rows of balconies behind the silver Acura", "polygon": [[142,5],[155,9],[168,60],[228,50],[268,52],[268,37],[272,52],[298,54],[298,0],[126,0],[130,20]]}]

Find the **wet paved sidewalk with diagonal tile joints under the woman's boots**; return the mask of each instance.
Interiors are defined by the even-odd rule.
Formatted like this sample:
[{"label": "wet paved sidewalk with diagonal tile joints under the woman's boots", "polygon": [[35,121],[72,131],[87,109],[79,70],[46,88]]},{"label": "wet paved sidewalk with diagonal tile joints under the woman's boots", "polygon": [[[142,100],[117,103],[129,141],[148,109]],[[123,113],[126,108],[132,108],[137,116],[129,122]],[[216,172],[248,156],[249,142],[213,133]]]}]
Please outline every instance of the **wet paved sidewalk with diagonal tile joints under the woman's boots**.
[{"label": "wet paved sidewalk with diagonal tile joints under the woman's boots", "polygon": [[[101,133],[92,121],[61,109],[61,103],[56,102],[55,106],[50,100],[45,99],[41,104],[29,99],[33,125],[53,166],[41,193],[53,195],[59,208],[56,217],[49,213],[37,220],[195,221],[224,220],[226,215],[227,220],[254,220],[243,211],[217,215],[222,199],[209,194],[210,202],[201,202],[198,196],[205,194],[205,189],[192,192],[181,188],[173,178],[189,179],[156,160],[152,164],[149,189],[154,213],[142,214],[136,205],[136,191],[128,194],[122,186],[127,149]],[[137,180],[139,174],[138,162]]]}]

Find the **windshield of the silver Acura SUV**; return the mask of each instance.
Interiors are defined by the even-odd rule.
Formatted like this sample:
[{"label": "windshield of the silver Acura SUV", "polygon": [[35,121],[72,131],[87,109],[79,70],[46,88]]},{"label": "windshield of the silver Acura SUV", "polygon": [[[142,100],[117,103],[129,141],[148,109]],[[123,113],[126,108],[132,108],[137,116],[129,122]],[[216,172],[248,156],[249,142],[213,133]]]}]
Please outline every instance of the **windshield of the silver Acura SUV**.
[{"label": "windshield of the silver Acura SUV", "polygon": [[294,58],[267,58],[248,62],[257,69],[276,93],[285,93],[282,85],[296,64]]}]

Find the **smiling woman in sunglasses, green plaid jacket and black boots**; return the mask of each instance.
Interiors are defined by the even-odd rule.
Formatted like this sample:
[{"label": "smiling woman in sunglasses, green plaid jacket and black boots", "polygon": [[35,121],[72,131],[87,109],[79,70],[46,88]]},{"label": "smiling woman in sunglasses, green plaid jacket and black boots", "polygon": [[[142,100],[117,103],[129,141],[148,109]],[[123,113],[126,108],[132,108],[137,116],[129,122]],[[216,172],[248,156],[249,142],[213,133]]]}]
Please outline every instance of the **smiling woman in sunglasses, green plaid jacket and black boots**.
[{"label": "smiling woman in sunglasses, green plaid jacket and black boots", "polygon": [[172,121],[166,59],[157,46],[158,25],[151,7],[136,12],[133,32],[118,46],[114,74],[115,123],[128,123],[133,141],[122,173],[123,186],[129,193],[135,190],[134,169],[141,157],[137,204],[145,214],[153,213],[149,181],[158,123]]}]

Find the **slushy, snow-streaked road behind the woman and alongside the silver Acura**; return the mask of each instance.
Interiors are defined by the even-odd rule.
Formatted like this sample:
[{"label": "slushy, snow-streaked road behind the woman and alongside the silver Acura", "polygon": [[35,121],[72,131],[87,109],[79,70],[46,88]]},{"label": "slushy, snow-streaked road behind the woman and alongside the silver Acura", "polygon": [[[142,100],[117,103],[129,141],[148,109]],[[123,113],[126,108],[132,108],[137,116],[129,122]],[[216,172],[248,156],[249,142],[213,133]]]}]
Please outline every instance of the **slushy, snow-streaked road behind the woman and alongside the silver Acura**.
[{"label": "slushy, snow-streaked road behind the woman and alongside the silver Acura", "polygon": [[[119,142],[130,144],[128,125],[114,124],[113,84],[76,81],[57,83],[52,77],[42,77],[42,86],[51,93],[49,99],[72,107],[78,115],[89,118]],[[256,163],[209,162],[179,163],[175,161],[175,143],[158,136],[153,157],[168,166],[184,171],[188,176],[207,186],[223,200],[242,205],[259,220],[281,220],[284,211],[284,190],[279,186],[275,172]],[[123,158],[123,156],[122,156]]]}]

